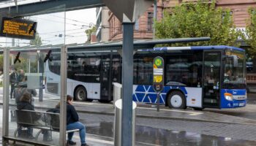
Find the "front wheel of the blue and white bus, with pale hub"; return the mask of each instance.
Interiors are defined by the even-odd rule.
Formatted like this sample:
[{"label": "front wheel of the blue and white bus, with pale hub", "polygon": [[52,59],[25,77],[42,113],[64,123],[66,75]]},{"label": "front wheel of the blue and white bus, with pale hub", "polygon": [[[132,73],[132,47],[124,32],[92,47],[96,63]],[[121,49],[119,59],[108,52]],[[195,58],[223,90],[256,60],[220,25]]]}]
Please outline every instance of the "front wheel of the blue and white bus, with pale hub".
[{"label": "front wheel of the blue and white bus, with pale hub", "polygon": [[186,99],[184,94],[179,91],[173,91],[168,96],[167,104],[170,108],[186,109]]}]

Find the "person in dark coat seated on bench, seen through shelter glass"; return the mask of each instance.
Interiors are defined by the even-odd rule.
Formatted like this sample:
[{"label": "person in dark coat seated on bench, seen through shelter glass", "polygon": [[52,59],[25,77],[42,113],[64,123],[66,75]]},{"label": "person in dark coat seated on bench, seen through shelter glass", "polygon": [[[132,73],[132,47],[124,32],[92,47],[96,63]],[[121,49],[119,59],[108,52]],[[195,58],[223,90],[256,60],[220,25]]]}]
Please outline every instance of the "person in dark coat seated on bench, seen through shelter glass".
[{"label": "person in dark coat seated on bench, seen through shelter glass", "polygon": [[[31,93],[23,93],[23,95],[20,98],[20,101],[17,103],[17,109],[18,110],[34,110],[34,105],[31,104]],[[22,127],[18,124],[18,137],[22,137]],[[34,139],[33,137],[33,128],[26,126],[28,128],[27,131],[27,138]]]}]

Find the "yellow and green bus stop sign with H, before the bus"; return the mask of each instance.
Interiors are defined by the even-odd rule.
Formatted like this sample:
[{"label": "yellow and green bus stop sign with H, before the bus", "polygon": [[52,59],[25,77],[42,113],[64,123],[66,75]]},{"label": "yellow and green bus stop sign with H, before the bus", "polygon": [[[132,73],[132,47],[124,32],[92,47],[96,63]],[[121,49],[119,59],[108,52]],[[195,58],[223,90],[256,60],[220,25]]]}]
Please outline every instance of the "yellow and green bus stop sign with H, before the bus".
[{"label": "yellow and green bus stop sign with H, before the bus", "polygon": [[153,61],[153,88],[161,92],[164,88],[164,59],[157,56]]}]

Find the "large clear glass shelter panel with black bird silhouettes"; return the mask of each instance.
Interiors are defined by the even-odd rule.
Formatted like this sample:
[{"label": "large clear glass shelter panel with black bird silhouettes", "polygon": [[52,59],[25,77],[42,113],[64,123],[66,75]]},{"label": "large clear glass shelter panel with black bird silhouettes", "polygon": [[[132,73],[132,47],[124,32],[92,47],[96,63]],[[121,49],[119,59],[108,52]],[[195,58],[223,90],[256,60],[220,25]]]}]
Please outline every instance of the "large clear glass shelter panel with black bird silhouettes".
[{"label": "large clear glass shelter panel with black bird silhouettes", "polygon": [[[63,10],[64,8],[60,6],[52,9]],[[43,13],[48,13],[48,10]],[[51,46],[64,45],[64,17],[65,12],[25,17],[22,19],[36,22],[32,23],[27,30],[26,26],[23,26],[27,34],[35,34],[35,39],[13,39],[10,34],[6,36],[5,45],[11,50],[10,137],[59,145],[59,113],[52,113],[58,110],[51,109],[55,108],[60,100],[58,96],[60,75],[54,74],[60,72],[60,67],[56,66],[54,72],[49,72],[48,64],[51,61],[50,50],[56,52]],[[13,22],[18,22],[17,20],[12,19]],[[56,32],[58,35],[55,34]],[[47,47],[48,49],[40,49],[46,48],[45,45],[50,46]],[[56,62],[60,65],[60,57],[58,59],[59,61]]]}]

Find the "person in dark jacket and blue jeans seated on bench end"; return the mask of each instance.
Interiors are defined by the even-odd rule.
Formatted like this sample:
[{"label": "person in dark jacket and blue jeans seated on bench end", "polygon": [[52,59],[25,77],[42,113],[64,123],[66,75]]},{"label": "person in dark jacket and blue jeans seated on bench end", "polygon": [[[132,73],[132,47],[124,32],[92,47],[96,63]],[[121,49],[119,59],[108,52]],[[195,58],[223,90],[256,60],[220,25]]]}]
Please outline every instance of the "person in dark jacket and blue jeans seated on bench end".
[{"label": "person in dark jacket and blue jeans seated on bench end", "polygon": [[[78,112],[75,110],[75,107],[72,105],[73,97],[67,95],[67,130],[79,129],[79,136],[81,146],[89,146],[86,144],[86,127],[83,123],[79,122]],[[59,108],[59,104],[56,108]],[[67,135],[67,143],[69,145],[76,145],[76,142],[72,141],[74,132],[70,132]]]}]

